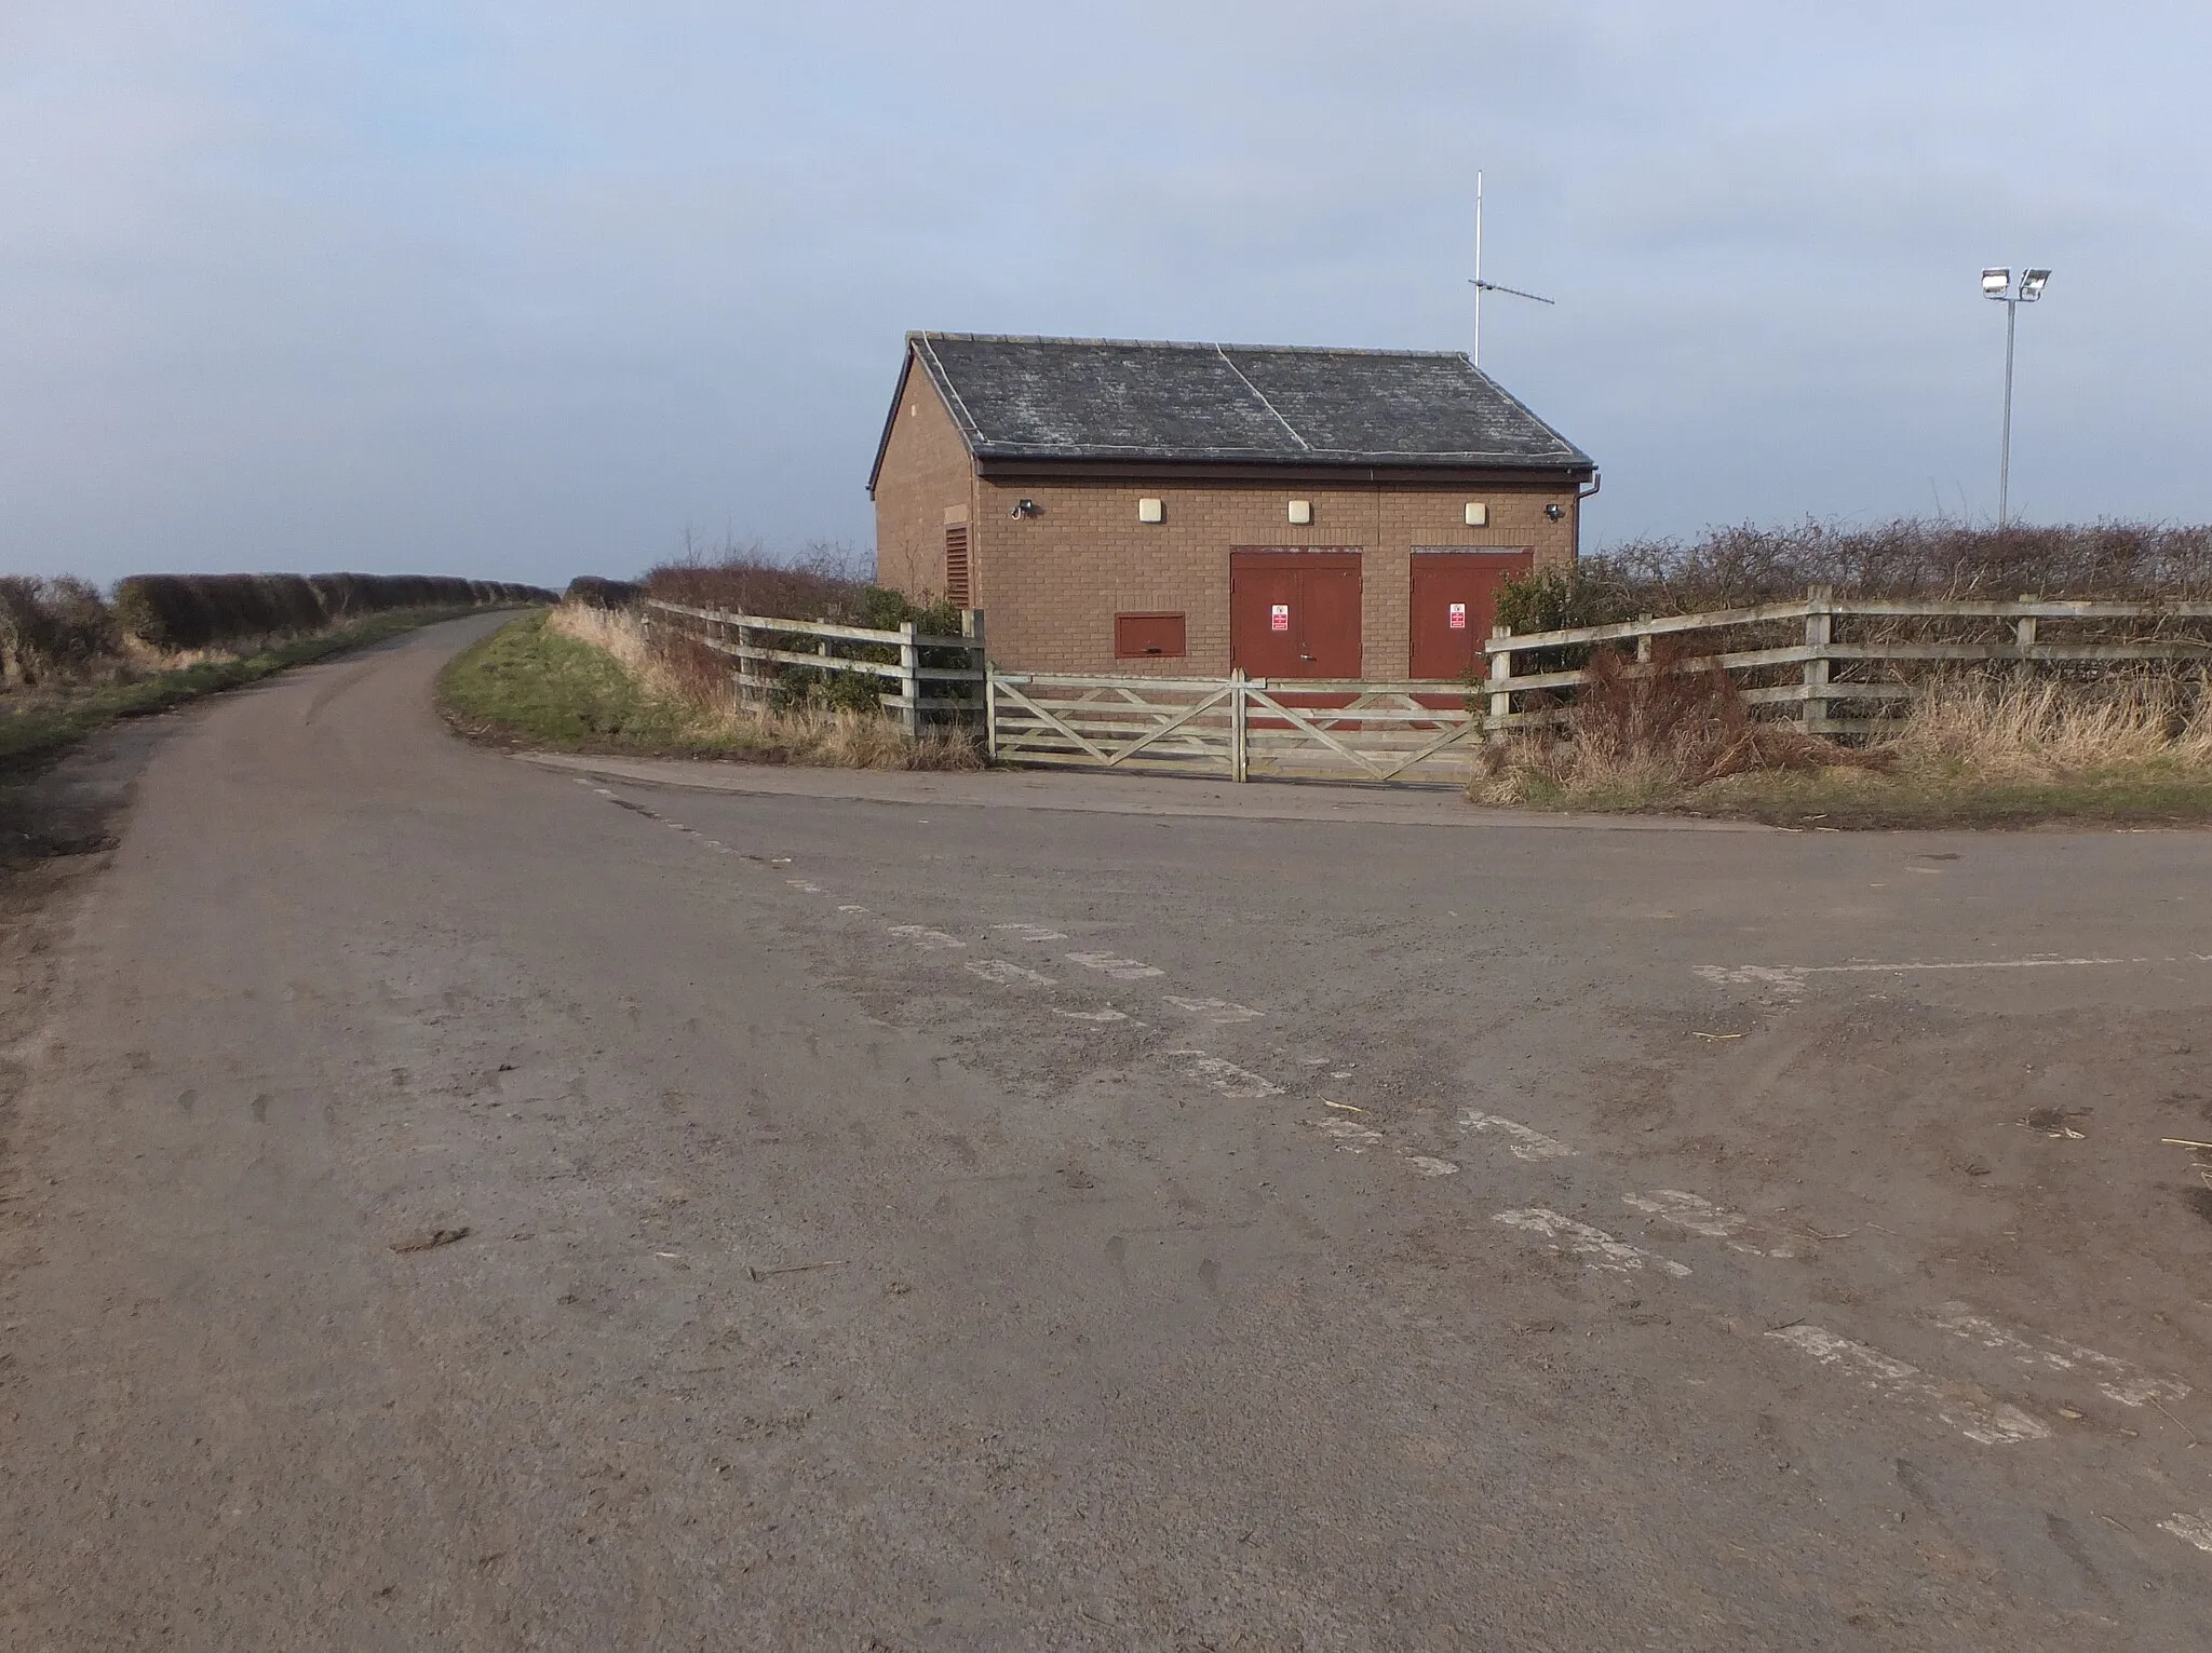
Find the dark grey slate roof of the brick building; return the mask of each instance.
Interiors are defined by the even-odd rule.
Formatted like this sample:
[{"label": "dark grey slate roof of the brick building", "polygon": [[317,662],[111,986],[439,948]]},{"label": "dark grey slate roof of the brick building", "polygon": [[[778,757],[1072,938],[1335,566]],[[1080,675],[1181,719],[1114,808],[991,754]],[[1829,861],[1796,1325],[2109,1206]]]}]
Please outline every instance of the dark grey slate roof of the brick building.
[{"label": "dark grey slate roof of the brick building", "polygon": [[984,460],[1593,466],[1460,351],[989,334],[907,343]]}]

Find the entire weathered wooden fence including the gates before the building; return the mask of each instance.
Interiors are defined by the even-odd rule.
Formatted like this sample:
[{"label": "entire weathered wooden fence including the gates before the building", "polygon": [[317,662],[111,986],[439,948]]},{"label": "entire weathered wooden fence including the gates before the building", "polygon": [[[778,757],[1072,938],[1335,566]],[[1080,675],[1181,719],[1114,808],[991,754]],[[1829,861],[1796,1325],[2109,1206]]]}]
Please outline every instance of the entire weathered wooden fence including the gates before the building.
[{"label": "entire weathered wooden fence including the gates before the building", "polygon": [[[1471,745],[1571,716],[1590,667],[1537,659],[1542,670],[1515,670],[1546,652],[1586,661],[1593,647],[1632,650],[1628,676],[1728,672],[1761,714],[1845,736],[1878,731],[1885,714],[1922,692],[1929,667],[2051,667],[2077,678],[2141,665],[2212,667],[2212,603],[1838,599],[1825,586],[1787,603],[1705,614],[1522,634],[1500,628],[1484,643],[1484,676],[1469,683],[1004,672],[984,656],[980,610],[962,612],[960,636],[661,601],[646,610],[732,656],[743,696],[765,698],[779,667],[860,672],[887,685],[880,703],[909,731],[920,731],[925,716],[980,723],[1000,762],[1228,780],[1460,780]],[[1668,636],[1692,647],[1661,654],[1655,643]],[[867,654],[854,654],[856,645]],[[967,665],[922,665],[936,650],[958,650]],[[973,692],[942,692],[953,685]]]}]

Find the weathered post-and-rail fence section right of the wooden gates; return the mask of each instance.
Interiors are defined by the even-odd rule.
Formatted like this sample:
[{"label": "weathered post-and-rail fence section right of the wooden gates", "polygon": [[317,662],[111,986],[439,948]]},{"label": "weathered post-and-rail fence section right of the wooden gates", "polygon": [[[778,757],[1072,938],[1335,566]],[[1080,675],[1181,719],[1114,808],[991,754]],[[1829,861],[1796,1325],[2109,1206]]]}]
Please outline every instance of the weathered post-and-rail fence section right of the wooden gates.
[{"label": "weathered post-and-rail fence section right of the wooden gates", "polygon": [[[1869,639],[1845,641],[1836,634],[1838,623],[1858,621],[2006,621],[2008,634],[2002,639]],[[1714,647],[1674,663],[1677,670],[1712,667],[1732,674],[1772,674],[1796,667],[1794,683],[1752,683],[1743,698],[1759,707],[1787,707],[1785,716],[1796,718],[1814,734],[1871,734],[1880,727],[1880,714],[1911,701],[1924,687],[1896,667],[1951,663],[1951,665],[2000,665],[2020,670],[2070,665],[2070,667],[2115,667],[2115,665],[2174,665],[2194,661],[2212,663],[2212,636],[2205,636],[2212,621],[2212,603],[2106,603],[2022,597],[2017,601],[1944,599],[1944,597],[1843,597],[1829,586],[1814,586],[1803,599],[1787,603],[1756,603],[1750,608],[1723,608],[1705,614],[1652,614],[1613,625],[1568,625],[1555,632],[1520,632],[1500,625],[1482,645],[1486,672],[1482,689],[1489,694],[1489,716],[1484,725],[1493,734],[1515,727],[1557,723],[1568,716],[1566,705],[1515,705],[1517,694],[1573,692],[1590,681],[1586,665],[1515,672],[1517,654],[1540,654],[1551,650],[1588,650],[1617,643],[1635,643],[1637,661],[1628,665],[1630,676],[1648,676],[1652,667],[1652,641],[1661,636],[1683,636],[1692,632],[1730,632],[1747,628],[1774,628],[1803,623],[1803,643],[1774,647]],[[2152,632],[2126,641],[2108,639],[2053,639],[2039,636],[2042,621],[2128,623]],[[2199,634],[2159,634],[2174,623],[2192,623]],[[1869,676],[1865,667],[1891,667],[1887,676]],[[1845,667],[1849,676],[1838,676]],[[1865,707],[1876,716],[1836,716],[1838,705]]]}]

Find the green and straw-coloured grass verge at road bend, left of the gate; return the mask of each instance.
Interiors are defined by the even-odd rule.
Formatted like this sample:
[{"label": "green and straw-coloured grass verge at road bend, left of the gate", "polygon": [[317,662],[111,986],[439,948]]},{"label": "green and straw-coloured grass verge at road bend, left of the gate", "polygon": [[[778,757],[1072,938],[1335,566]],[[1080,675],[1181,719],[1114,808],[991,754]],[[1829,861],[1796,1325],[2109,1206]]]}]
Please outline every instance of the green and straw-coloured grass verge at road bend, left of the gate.
[{"label": "green and straw-coloured grass verge at road bend, left of the gate", "polygon": [[[697,674],[692,674],[697,676]],[[836,769],[978,769],[964,734],[920,740],[880,714],[737,707],[679,678],[622,614],[526,614],[462,650],[438,674],[445,720],[473,740],[551,751],[810,762]]]}]

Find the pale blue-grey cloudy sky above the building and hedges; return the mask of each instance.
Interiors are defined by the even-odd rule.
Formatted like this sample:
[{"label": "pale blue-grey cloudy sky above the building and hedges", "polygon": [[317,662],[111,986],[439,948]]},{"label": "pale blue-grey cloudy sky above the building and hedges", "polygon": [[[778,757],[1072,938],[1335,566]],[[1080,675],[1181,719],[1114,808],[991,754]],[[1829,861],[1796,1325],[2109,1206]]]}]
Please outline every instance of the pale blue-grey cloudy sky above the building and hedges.
[{"label": "pale blue-grey cloudy sky above the building and hedges", "polygon": [[867,555],[907,329],[1464,349],[1584,546],[2212,517],[2212,11],[0,0],[0,568]]}]

